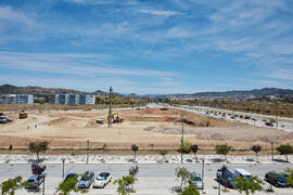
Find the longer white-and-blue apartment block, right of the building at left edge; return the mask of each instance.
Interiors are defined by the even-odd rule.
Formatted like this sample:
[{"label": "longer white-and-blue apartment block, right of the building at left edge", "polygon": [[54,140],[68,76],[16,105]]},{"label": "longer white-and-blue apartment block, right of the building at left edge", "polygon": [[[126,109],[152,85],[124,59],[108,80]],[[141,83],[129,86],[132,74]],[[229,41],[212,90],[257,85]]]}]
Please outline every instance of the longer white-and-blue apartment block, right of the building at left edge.
[{"label": "longer white-and-blue apartment block, right of the building at left edge", "polygon": [[94,104],[94,95],[54,94],[49,96],[50,104],[63,105],[91,105]]}]

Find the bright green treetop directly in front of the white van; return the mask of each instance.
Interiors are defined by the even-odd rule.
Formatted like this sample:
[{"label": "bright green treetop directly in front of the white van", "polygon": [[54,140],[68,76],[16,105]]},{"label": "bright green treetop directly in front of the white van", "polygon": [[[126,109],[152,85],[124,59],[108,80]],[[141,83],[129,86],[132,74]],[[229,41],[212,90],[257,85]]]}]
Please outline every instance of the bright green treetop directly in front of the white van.
[{"label": "bright green treetop directly in front of the white van", "polygon": [[262,191],[262,185],[264,185],[264,182],[257,177],[238,177],[234,180],[234,188],[240,193],[244,192],[246,195],[250,195],[250,193],[254,194],[255,191]]}]

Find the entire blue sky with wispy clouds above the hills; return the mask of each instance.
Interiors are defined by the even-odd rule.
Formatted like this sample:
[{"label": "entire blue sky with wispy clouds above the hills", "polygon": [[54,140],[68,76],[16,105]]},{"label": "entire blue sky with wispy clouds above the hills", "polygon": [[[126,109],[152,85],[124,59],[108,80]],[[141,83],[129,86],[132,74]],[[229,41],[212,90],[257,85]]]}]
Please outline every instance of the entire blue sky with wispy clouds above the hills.
[{"label": "entire blue sky with wispy clouds above the hills", "polygon": [[292,0],[1,0],[0,84],[293,89]]}]

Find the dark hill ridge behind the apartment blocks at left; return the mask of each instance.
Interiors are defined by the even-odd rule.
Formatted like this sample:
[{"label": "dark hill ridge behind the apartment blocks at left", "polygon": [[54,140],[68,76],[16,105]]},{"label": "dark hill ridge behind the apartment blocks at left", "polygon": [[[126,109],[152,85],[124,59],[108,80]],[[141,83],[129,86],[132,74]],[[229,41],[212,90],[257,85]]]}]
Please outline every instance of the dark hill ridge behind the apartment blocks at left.
[{"label": "dark hill ridge behind the apartment blocks at left", "polygon": [[[41,87],[15,87],[11,84],[0,86],[0,94],[34,94],[34,95],[50,95],[56,93],[73,93],[73,94],[94,94],[105,95],[106,92],[97,90],[94,92],[82,92],[73,89],[63,88],[41,88]],[[116,93],[117,94],[117,93]]]}]

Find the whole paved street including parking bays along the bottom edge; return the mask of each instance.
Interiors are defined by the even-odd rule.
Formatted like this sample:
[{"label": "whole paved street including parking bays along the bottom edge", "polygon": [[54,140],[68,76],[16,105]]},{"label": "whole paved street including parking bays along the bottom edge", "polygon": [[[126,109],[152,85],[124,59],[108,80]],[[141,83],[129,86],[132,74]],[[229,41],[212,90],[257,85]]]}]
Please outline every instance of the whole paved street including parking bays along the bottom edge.
[{"label": "whole paved street including parking bays along the bottom edge", "polygon": [[[81,173],[86,170],[92,170],[98,174],[101,171],[109,171],[113,174],[114,180],[122,176],[128,174],[128,169],[131,165],[65,165],[65,173],[77,172]],[[180,167],[179,165],[139,165],[138,183],[136,188],[137,194],[174,194],[170,188],[178,185],[178,181],[175,180],[175,169]],[[190,171],[202,172],[202,165],[184,165]],[[204,181],[206,194],[217,194],[218,183],[214,180],[216,170],[219,165],[205,165],[204,166]],[[283,165],[229,165],[228,168],[234,170],[235,168],[244,168],[260,178],[264,178],[268,171],[283,171],[285,168],[293,169],[292,164]],[[30,176],[29,165],[0,165],[0,182],[8,178],[14,178],[22,176],[27,179]],[[48,177],[46,181],[46,194],[54,194],[55,187],[62,181],[62,165],[48,165]],[[266,187],[268,184],[266,184]],[[276,188],[275,194],[290,195],[293,194],[293,190],[289,188]],[[115,194],[116,185],[111,183],[104,190],[90,190],[89,194]],[[18,191],[16,194],[27,194],[25,191]],[[29,193],[28,193],[29,194]],[[31,193],[30,193],[31,194]],[[234,190],[230,190],[225,194],[238,194]],[[264,193],[256,193],[264,194]]]}]

